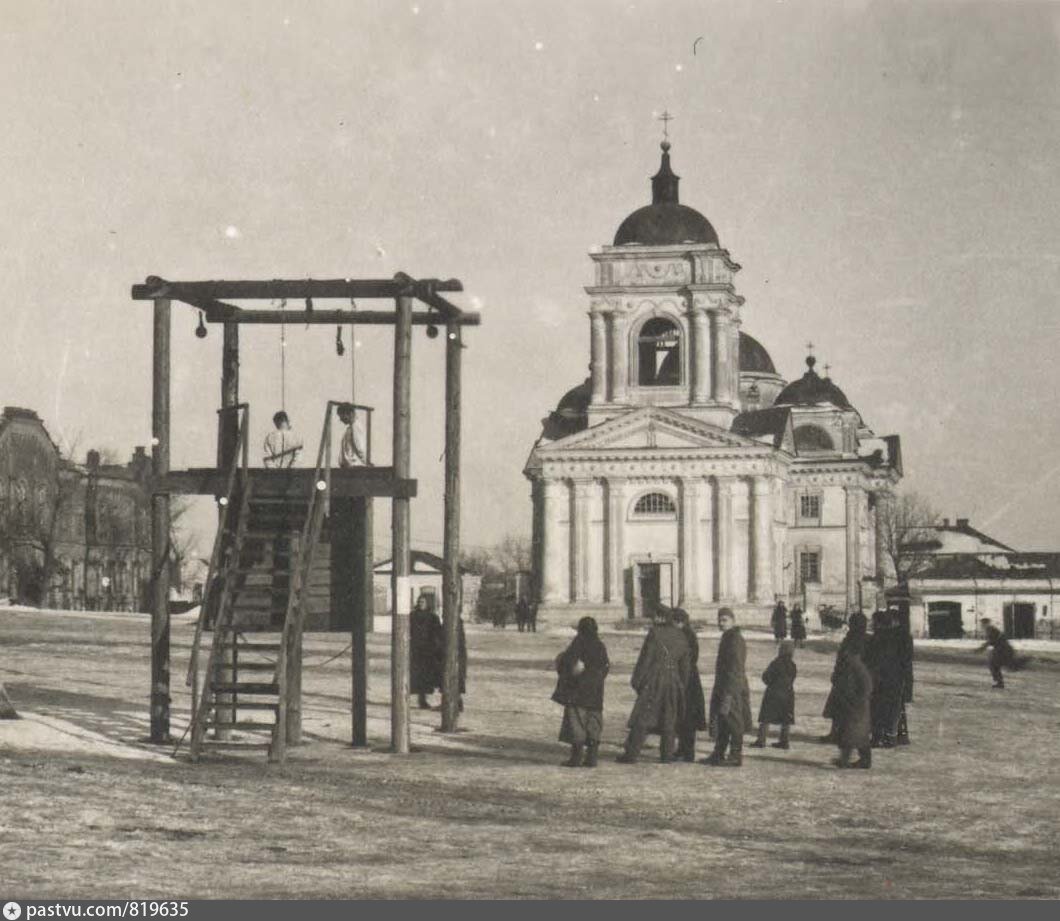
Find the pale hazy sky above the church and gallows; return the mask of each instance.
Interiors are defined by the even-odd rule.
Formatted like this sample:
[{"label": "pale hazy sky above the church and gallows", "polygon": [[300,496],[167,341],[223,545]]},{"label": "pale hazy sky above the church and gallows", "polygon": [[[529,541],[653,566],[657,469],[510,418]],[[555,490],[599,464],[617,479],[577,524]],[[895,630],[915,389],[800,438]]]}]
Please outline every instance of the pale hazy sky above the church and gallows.
[{"label": "pale hazy sky above the church and gallows", "polygon": [[[744,329],[780,372],[802,372],[812,339],[866,422],[902,436],[909,488],[1060,550],[1060,5],[0,12],[0,402],[57,436],[122,454],[149,439],[151,308],[128,297],[148,274],[455,276],[483,314],[466,337],[465,539],[528,533],[523,464],[586,374],[586,252],[648,202],[668,108],[682,200],[744,267]],[[205,464],[219,330],[200,341],[174,309],[173,460]],[[311,442],[350,387],[334,336],[288,333],[287,409]],[[243,341],[259,441],[279,331]],[[413,343],[412,528],[434,550],[442,343]],[[390,349],[375,329],[357,351],[379,459]]]}]

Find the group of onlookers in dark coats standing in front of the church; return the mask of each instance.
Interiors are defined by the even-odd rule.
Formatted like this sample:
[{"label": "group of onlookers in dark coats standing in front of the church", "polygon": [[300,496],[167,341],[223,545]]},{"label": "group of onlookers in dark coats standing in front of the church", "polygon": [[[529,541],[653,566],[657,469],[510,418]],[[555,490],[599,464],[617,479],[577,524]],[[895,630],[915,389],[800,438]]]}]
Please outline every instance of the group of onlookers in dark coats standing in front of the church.
[{"label": "group of onlookers in dark coats standing in front of the church", "polygon": [[[747,647],[731,609],[719,610],[718,626],[721,637],[708,703],[699,672],[699,638],[688,614],[669,607],[657,612],[633,670],[631,684],[637,698],[617,759],[620,763],[635,763],[650,734],[659,737],[660,761],[695,761],[696,733],[706,731],[713,747],[704,764],[742,766],[744,737],[756,731],[746,674]],[[773,628],[777,654],[761,676],[764,692],[750,745],[765,747],[771,727],[777,726],[779,736],[773,747],[789,749],[796,709],[795,651],[806,639],[801,612],[797,607],[792,610],[789,638],[788,614],[778,603]],[[604,679],[610,668],[596,620],[583,617],[573,641],[555,659],[559,679],[552,699],[564,708],[560,741],[570,745],[565,766],[594,767],[598,762]],[[823,712],[832,725],[820,741],[838,749],[833,764],[870,768],[873,748],[909,744],[905,708],[912,699],[913,639],[900,612],[877,612],[871,631],[863,614],[851,614]],[[852,761],[855,751],[858,760]]]}]

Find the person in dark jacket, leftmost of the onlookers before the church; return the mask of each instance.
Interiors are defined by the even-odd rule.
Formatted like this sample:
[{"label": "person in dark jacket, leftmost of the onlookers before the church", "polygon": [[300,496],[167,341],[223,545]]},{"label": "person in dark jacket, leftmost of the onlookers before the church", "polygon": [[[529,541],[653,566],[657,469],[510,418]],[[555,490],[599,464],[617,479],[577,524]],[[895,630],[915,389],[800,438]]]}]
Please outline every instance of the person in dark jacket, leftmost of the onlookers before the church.
[{"label": "person in dark jacket, leftmost of the onlookers before the church", "polygon": [[552,699],[563,705],[560,741],[570,746],[564,767],[596,767],[603,732],[603,684],[611,670],[607,648],[591,617],[578,621],[578,635],[555,657],[559,680]]}]

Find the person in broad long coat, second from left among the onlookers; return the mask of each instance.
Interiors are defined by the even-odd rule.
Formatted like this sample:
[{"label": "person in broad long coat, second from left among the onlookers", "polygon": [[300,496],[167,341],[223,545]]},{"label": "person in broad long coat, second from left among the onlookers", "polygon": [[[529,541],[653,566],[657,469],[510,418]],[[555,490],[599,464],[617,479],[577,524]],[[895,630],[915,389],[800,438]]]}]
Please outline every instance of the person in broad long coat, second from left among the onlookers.
[{"label": "person in broad long coat, second from left among the onlookers", "polygon": [[630,734],[618,760],[633,764],[649,732],[659,733],[659,761],[673,760],[673,736],[685,707],[691,650],[673,624],[669,608],[656,613],[655,626],[644,637],[631,684],[637,702],[630,713]]}]

